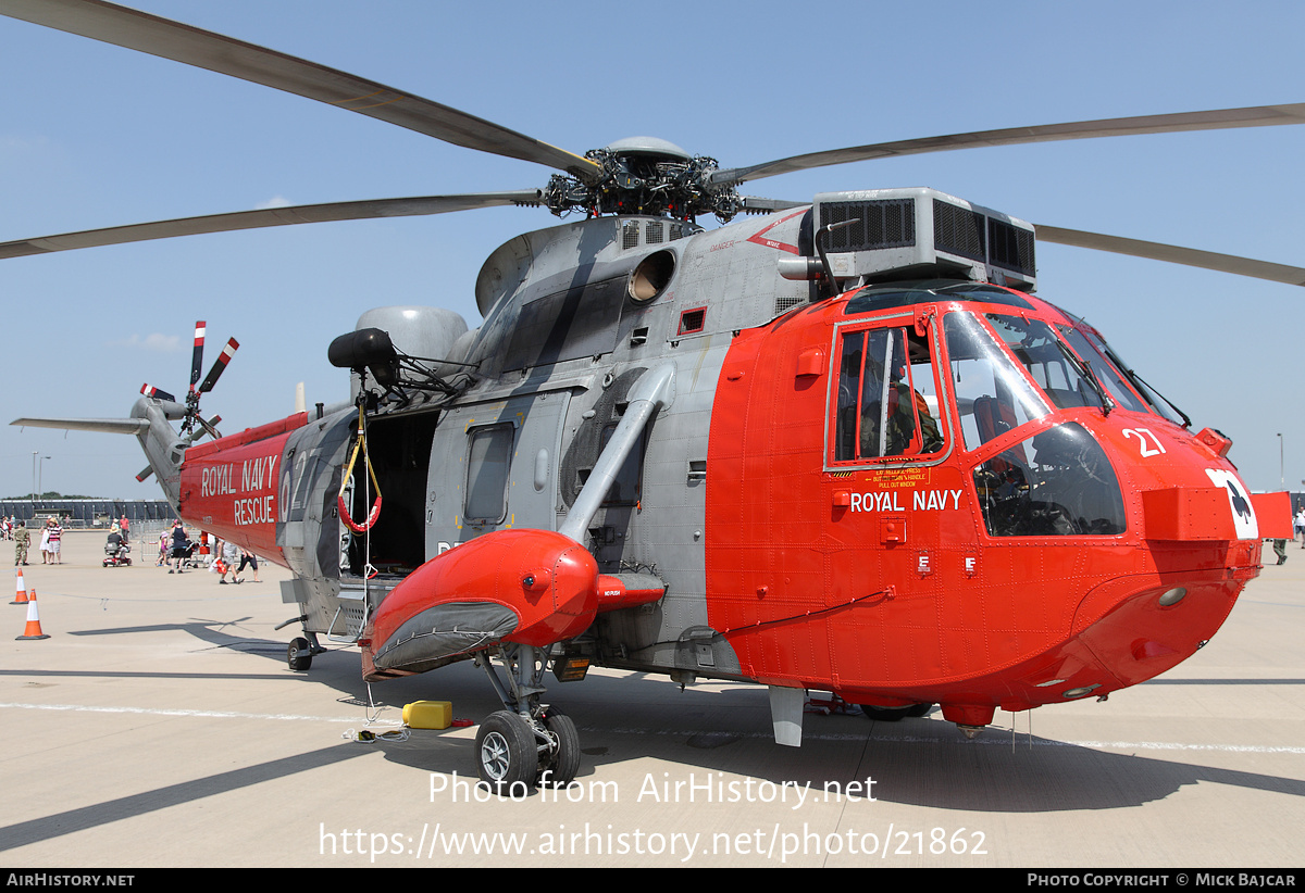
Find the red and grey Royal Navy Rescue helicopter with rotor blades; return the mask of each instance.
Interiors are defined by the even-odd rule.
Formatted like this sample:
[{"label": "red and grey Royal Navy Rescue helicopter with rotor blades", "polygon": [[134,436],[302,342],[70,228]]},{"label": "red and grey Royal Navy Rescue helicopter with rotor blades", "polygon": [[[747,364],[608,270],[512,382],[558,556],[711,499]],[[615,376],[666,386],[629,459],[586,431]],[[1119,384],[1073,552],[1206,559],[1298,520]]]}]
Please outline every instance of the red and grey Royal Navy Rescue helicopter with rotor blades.
[{"label": "red and grey Royal Navy Rescue helicopter with rotor blades", "polygon": [[[1191,429],[1083,319],[1035,297],[1037,240],[1305,283],[1305,270],[1035,227],[925,188],[806,202],[737,186],[891,155],[1300,124],[1305,104],[867,145],[722,168],[655,138],[583,156],[343,72],[98,0],[0,12],[556,171],[543,188],[345,202],[13,241],[0,257],[497,205],[579,219],[512,239],[483,322],[380,308],[329,348],[352,399],[219,435],[200,394],[129,418],[193,525],[288,567],[305,670],[321,639],[371,682],[455,661],[504,709],[480,777],[566,783],[574,722],[545,699],[592,666],[804,692],[870,716],[1105,697],[1201,648],[1291,536],[1231,442]],[[740,212],[757,212],[731,222]],[[705,229],[697,218],[724,224]],[[174,422],[180,422],[174,428]],[[209,439],[205,439],[209,437]],[[549,681],[548,677],[552,675]]]}]

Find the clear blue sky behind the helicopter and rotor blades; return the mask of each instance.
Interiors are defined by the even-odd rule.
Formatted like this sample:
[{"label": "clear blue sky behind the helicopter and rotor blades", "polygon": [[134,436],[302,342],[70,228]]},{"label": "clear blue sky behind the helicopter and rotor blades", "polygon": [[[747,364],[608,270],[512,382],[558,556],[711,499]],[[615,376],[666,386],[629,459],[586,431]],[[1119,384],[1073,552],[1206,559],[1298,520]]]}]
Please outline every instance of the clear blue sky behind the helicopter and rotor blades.
[{"label": "clear blue sky behind the helicopter and rotor blades", "polygon": [[[1305,4],[416,3],[138,0],[583,153],[652,134],[737,167],[846,145],[1305,102]],[[0,18],[0,241],[269,202],[543,185],[480,155],[176,63]],[[934,186],[1032,223],[1305,266],[1305,126],[919,155],[745,184]],[[346,395],[326,345],[359,314],[428,304],[478,323],[484,258],[544,210],[282,227],[0,262],[0,421],[123,416],[240,352],[207,413],[236,430]],[[709,224],[713,226],[713,224]],[[1041,245],[1039,295],[1086,315],[1255,489],[1305,478],[1305,292]],[[1279,437],[1284,465],[1279,464]],[[154,498],[133,438],[0,426],[0,495]],[[1298,488],[1300,485],[1296,484]]]}]

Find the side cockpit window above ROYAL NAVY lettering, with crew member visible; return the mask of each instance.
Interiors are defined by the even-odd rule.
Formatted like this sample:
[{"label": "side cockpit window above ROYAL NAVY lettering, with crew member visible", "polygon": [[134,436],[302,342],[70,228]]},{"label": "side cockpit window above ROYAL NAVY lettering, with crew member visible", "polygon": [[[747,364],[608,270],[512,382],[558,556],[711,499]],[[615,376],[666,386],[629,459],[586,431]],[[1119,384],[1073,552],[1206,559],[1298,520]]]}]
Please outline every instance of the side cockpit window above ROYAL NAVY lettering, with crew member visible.
[{"label": "side cockpit window above ROYAL NAVY lettering, with crew member visible", "polygon": [[838,347],[833,460],[941,451],[928,340],[914,327],[843,330]]}]

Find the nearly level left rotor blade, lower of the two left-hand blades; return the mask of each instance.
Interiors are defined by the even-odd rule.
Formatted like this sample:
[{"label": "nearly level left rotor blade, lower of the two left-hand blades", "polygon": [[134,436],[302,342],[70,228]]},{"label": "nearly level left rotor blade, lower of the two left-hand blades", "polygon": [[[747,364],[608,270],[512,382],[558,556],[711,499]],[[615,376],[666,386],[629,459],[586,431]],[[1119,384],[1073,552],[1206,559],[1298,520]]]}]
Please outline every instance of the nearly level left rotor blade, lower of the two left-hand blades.
[{"label": "nearly level left rotor blade, lower of the two left-hand blades", "polygon": [[[0,4],[7,1],[0,0]],[[257,211],[210,214],[177,220],[134,223],[104,229],[84,229],[82,232],[65,232],[59,236],[44,236],[42,239],[20,239],[10,242],[0,242],[0,259],[27,254],[44,254],[48,252],[65,252],[73,248],[121,245],[124,242],[146,241],[150,239],[171,239],[172,236],[230,232],[232,229],[256,229],[258,227],[283,227],[294,223],[365,220],[386,216],[449,214],[452,211],[470,211],[478,207],[499,207],[504,205],[535,205],[539,199],[540,193],[538,189],[525,189],[519,192],[489,192],[466,196],[376,198],[359,202],[268,207]]]}]

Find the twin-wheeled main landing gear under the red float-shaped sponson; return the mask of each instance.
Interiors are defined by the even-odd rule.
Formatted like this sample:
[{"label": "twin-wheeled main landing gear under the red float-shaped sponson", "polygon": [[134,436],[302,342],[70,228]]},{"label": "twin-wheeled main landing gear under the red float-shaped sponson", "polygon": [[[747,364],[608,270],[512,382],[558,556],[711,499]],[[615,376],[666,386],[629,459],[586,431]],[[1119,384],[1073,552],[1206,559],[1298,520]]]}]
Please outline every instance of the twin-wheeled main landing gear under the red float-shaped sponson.
[{"label": "twin-wheeled main landing gear under the red float-shaped sponson", "polygon": [[566,787],[579,772],[579,734],[569,716],[539,703],[544,694],[548,654],[532,645],[506,645],[499,657],[508,686],[487,654],[476,657],[505,708],[480,724],[476,770],[480,781],[500,793],[538,785]]}]

